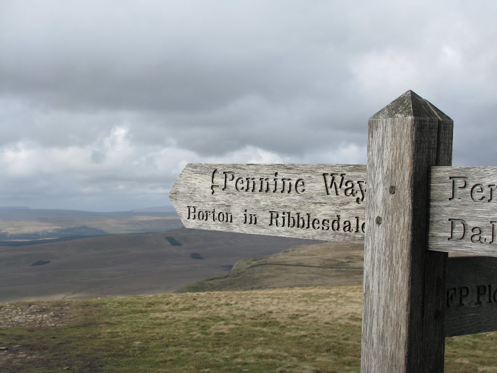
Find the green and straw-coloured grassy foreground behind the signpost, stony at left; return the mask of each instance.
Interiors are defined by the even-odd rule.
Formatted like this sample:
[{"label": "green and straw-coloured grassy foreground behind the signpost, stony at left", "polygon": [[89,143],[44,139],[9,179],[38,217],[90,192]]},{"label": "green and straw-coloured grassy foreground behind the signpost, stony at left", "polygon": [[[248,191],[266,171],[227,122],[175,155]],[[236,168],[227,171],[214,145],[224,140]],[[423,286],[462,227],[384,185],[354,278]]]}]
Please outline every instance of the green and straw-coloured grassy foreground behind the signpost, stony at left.
[{"label": "green and straw-coloured grassy foreground behind the signpost, stony at left", "polygon": [[[360,284],[0,304],[0,371],[359,372]],[[497,372],[496,333],[446,372]]]}]

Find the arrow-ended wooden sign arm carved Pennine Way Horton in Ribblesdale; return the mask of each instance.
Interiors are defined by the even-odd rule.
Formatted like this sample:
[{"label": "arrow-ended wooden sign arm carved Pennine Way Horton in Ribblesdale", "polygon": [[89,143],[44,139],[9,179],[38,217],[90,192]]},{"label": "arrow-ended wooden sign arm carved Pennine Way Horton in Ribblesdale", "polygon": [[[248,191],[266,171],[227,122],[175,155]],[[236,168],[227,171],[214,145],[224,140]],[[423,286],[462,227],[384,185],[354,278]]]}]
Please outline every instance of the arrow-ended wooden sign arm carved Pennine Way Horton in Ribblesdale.
[{"label": "arrow-ended wooden sign arm carved Pennine Way Horton in Ribblesdale", "polygon": [[187,228],[362,243],[365,181],[364,165],[188,164],[169,197]]}]

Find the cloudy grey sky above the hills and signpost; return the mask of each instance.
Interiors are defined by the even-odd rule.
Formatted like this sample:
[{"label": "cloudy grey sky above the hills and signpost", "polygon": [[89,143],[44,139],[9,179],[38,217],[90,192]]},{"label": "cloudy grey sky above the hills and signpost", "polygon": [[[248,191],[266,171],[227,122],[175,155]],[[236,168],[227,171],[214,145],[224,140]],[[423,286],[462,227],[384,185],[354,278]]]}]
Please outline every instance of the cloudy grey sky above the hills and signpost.
[{"label": "cloudy grey sky above the hills and signpost", "polygon": [[413,90],[496,166],[493,1],[0,0],[0,205],[168,204],[189,162],[365,163]]}]

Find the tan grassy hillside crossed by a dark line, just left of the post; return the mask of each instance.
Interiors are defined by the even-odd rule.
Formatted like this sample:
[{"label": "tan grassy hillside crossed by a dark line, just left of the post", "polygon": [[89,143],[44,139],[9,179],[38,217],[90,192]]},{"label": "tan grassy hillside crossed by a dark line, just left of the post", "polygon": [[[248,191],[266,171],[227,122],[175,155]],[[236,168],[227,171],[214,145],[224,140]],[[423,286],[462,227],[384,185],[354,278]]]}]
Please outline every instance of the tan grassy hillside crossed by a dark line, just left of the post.
[{"label": "tan grassy hillside crossed by a dark line, just left of the post", "polygon": [[297,246],[241,260],[227,275],[190,284],[177,292],[357,283],[362,281],[363,262],[363,245],[326,242]]}]

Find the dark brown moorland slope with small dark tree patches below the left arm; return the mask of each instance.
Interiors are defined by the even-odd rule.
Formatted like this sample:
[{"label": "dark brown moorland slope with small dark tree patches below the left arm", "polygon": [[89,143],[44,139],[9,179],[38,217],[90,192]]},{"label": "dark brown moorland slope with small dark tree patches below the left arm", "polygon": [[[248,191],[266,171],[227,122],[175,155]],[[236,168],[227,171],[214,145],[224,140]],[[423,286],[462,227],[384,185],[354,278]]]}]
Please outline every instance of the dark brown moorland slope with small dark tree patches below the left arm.
[{"label": "dark brown moorland slope with small dark tree patches below the left arm", "polygon": [[185,228],[15,248],[0,242],[0,302],[172,292],[223,276],[241,259],[315,242]]}]

